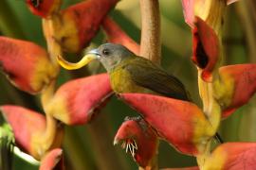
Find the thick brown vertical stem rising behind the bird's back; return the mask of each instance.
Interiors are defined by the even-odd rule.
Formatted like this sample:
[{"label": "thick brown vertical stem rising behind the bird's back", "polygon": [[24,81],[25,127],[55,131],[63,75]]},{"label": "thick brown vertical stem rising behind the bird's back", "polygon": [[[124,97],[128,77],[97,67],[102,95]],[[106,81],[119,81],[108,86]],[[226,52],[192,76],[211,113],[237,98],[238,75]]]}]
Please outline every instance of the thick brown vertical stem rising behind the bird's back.
[{"label": "thick brown vertical stem rising behind the bird's back", "polygon": [[140,0],[140,56],[160,63],[160,14],[158,0]]}]

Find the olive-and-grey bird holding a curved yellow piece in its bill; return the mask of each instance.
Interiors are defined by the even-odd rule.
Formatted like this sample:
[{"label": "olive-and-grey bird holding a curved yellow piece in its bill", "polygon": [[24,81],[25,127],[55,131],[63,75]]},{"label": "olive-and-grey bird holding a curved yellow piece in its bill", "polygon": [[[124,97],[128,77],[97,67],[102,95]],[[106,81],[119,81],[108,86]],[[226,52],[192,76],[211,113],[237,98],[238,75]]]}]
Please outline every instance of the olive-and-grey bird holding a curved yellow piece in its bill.
[{"label": "olive-and-grey bird holding a curved yellow piece in its bill", "polygon": [[[79,69],[93,59],[99,59],[106,69],[114,93],[151,93],[192,102],[190,93],[177,77],[121,44],[101,44],[86,53],[77,63],[68,62],[62,56],[57,58],[67,70]],[[217,133],[215,138],[223,142]]]}]

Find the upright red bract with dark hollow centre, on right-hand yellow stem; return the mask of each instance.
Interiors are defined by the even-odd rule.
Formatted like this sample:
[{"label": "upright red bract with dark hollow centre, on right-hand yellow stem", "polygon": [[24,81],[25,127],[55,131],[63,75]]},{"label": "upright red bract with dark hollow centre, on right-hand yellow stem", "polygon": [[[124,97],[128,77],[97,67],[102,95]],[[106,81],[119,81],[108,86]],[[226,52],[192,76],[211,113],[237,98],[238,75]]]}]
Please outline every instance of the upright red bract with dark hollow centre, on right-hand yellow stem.
[{"label": "upright red bract with dark hollow centre, on right-hand yellow stem", "polygon": [[212,72],[220,60],[218,37],[199,17],[196,17],[192,33],[192,61],[199,68],[201,78],[211,82]]}]

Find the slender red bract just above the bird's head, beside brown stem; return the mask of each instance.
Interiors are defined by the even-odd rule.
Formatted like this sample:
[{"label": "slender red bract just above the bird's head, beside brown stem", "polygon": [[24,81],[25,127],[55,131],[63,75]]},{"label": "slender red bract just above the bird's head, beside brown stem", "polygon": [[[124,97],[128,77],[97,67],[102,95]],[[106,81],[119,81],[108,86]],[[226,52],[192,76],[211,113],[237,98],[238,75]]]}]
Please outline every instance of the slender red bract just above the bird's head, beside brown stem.
[{"label": "slender red bract just above the bird's head, beside brown stem", "polygon": [[106,17],[103,20],[102,27],[109,42],[122,44],[135,54],[139,54],[139,45],[137,42],[131,39],[110,17]]}]

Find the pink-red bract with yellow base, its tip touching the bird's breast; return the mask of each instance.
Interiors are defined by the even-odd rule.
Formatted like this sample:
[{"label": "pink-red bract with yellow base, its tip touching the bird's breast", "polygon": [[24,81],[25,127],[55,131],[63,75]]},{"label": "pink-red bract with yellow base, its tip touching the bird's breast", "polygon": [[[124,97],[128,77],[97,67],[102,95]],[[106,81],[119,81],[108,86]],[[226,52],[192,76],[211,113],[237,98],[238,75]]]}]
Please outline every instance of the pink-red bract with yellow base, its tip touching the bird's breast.
[{"label": "pink-red bract with yellow base, its tip touching the bird's breast", "polygon": [[107,74],[70,80],[54,94],[47,111],[67,125],[82,125],[112,93]]}]

